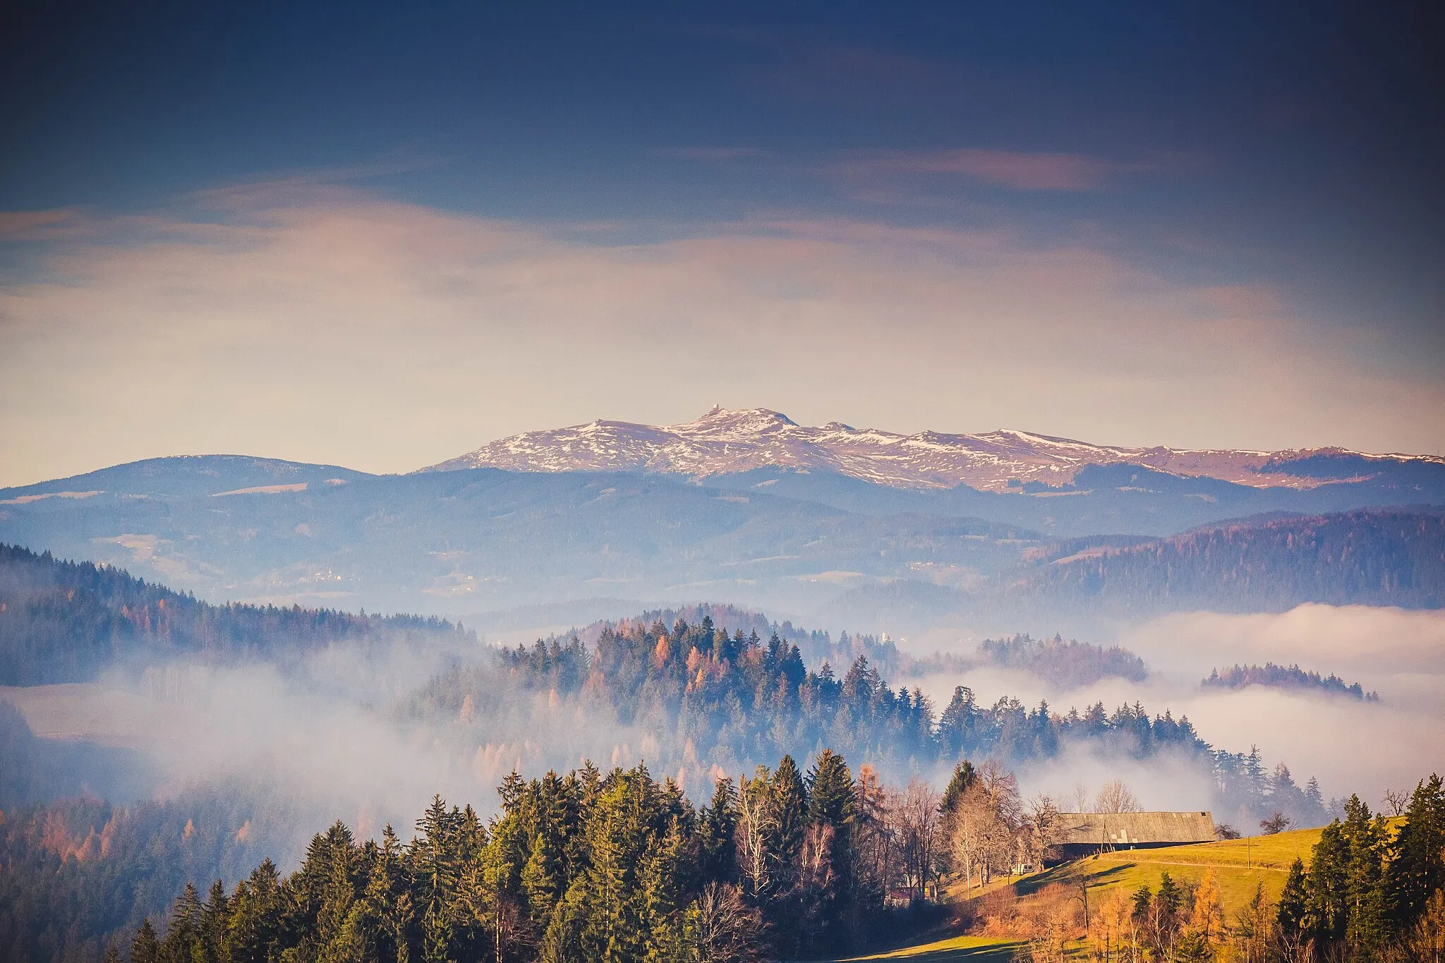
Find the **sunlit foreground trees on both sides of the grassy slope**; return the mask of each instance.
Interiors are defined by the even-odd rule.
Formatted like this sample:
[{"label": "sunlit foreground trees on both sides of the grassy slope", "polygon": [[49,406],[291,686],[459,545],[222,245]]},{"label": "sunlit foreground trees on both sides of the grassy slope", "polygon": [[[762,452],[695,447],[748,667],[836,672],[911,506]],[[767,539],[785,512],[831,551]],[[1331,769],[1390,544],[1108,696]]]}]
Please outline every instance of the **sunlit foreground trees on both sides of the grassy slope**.
[{"label": "sunlit foreground trees on both sides of the grassy slope", "polygon": [[[1007,820],[1012,788],[1006,774],[968,765],[942,796],[918,781],[884,790],[867,768],[858,777],[831,751],[806,774],[785,757],[740,785],[720,780],[695,809],[644,765],[513,774],[486,823],[438,797],[410,842],[387,827],[358,843],[335,823],[290,875],[263,860],[231,891],[215,882],[202,898],[188,885],[163,925],[137,928],[130,959],[728,963],[857,949],[926,912],[938,873],[958,868],[978,803],[993,798],[990,819]],[[1049,819],[1038,807],[1013,816],[1010,863],[1049,858]],[[1274,902],[1257,891],[1224,920],[1211,886],[1181,886],[1165,871],[1157,891],[1117,899],[1118,917],[1090,943],[1097,959],[1438,960],[1441,777],[1422,781],[1394,820],[1351,797]],[[1048,938],[1030,953],[1053,959]]]}]

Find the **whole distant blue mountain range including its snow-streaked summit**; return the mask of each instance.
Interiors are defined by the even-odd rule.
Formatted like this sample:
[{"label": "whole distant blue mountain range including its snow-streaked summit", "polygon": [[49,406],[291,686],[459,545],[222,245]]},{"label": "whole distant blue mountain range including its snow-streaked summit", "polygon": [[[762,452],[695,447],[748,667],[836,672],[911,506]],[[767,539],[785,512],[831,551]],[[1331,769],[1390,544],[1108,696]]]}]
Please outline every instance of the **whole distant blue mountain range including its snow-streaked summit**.
[{"label": "whole distant blue mountain range including its snow-streaked summit", "polygon": [[407,475],[147,459],[0,489],[0,541],[212,602],[499,628],[715,601],[1052,635],[1179,608],[1436,608],[1439,505],[1438,458],[902,436],[759,409],[519,435]]}]

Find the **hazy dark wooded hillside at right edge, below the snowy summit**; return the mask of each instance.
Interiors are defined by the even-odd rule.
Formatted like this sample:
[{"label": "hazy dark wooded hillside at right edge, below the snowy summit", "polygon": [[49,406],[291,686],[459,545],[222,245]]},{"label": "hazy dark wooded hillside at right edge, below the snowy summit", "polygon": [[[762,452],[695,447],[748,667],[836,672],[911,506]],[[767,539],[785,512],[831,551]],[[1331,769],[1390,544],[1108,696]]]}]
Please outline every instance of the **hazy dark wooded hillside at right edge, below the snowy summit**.
[{"label": "hazy dark wooded hillside at right edge, below the snowy summit", "polygon": [[1445,605],[1445,511],[1379,508],[1269,515],[1140,541],[1039,546],[1009,572],[955,588],[920,579],[853,589],[829,608],[850,625],[1098,631],[1166,612],[1283,612],[1296,605]]}]

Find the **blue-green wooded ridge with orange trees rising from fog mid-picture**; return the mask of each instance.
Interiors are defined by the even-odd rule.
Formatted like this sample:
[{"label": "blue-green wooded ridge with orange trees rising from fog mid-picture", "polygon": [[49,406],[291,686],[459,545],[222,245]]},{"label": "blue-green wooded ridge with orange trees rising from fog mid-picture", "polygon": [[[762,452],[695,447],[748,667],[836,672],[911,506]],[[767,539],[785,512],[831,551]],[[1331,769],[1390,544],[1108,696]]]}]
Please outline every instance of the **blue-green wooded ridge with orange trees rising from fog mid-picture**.
[{"label": "blue-green wooded ridge with orange trees rising from fog mid-picture", "polygon": [[539,640],[500,653],[500,666],[455,667],[435,677],[409,706],[428,722],[475,719],[500,709],[516,690],[556,694],[657,733],[659,757],[676,765],[736,772],[750,762],[824,746],[884,772],[994,758],[1026,765],[1052,758],[1071,741],[1105,754],[1150,758],[1170,752],[1212,772],[1217,797],[1231,810],[1267,816],[1273,806],[1299,824],[1324,822],[1318,791],[1296,787],[1287,770],[1264,771],[1257,752],[1215,749],[1188,718],[1142,705],[1113,712],[1097,703],[1056,713],[1003,696],[980,705],[957,686],[938,712],[919,689],[893,689],[867,655],[838,677],[828,663],[809,668],[796,644],[756,628],[728,632],[711,616],[670,627],[626,621],[601,631],[594,647],[579,638]]}]

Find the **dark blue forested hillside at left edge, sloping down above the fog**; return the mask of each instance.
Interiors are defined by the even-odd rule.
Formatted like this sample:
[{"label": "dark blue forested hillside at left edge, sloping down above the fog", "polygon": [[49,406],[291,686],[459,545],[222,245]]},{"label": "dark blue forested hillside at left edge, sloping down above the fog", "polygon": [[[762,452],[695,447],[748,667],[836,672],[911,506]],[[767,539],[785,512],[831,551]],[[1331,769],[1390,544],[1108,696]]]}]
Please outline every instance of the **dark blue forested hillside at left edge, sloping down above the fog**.
[{"label": "dark blue forested hillside at left edge, sloping down above the fog", "polygon": [[131,655],[275,657],[381,632],[452,634],[436,618],[208,605],[90,562],[0,544],[0,684],[94,679]]}]

